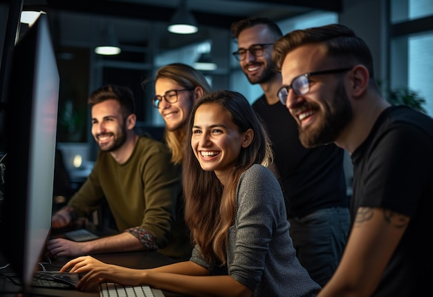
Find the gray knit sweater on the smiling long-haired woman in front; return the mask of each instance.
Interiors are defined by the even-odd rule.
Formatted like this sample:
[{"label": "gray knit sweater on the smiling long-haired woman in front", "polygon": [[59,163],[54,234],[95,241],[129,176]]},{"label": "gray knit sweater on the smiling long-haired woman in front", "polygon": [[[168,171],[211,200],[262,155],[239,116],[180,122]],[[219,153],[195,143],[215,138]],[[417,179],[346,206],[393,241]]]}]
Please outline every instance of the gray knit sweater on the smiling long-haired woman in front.
[{"label": "gray knit sweater on the smiling long-haired woman in front", "polygon": [[[320,286],[296,258],[281,188],[273,173],[255,164],[239,179],[236,218],[228,233],[228,275],[253,296],[315,296]],[[192,261],[212,267],[194,247]]]}]

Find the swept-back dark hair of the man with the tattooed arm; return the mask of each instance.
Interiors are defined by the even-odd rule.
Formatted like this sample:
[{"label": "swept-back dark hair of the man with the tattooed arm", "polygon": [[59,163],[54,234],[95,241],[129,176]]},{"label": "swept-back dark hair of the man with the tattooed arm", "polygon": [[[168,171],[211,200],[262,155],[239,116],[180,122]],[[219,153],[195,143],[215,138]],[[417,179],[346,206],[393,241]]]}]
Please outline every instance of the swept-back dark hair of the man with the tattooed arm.
[{"label": "swept-back dark hair of the man with the tattooed arm", "polygon": [[327,57],[342,67],[362,64],[374,77],[373,57],[369,47],[356,36],[353,30],[340,24],[330,24],[321,27],[294,30],[275,41],[273,48],[273,62],[277,70],[281,70],[284,58],[295,48],[305,44],[323,44]]}]

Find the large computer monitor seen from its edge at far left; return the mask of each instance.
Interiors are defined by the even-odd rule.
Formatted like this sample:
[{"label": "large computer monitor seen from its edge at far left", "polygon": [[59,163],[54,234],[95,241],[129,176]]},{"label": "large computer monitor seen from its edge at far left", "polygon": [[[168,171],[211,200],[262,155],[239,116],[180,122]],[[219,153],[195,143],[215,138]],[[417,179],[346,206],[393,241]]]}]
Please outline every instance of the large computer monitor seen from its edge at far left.
[{"label": "large computer monitor seen from its edge at far left", "polygon": [[29,291],[50,234],[59,72],[46,15],[17,41],[6,90],[1,253]]}]

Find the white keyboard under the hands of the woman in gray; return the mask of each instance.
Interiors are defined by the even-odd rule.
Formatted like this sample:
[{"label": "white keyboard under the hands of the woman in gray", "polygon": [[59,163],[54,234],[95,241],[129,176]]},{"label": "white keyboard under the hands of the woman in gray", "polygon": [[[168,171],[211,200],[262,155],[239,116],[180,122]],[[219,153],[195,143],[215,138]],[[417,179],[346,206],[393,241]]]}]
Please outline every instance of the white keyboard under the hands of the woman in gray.
[{"label": "white keyboard under the hands of the woman in gray", "polygon": [[114,282],[100,284],[100,297],[163,297],[163,291],[148,285],[124,286]]}]

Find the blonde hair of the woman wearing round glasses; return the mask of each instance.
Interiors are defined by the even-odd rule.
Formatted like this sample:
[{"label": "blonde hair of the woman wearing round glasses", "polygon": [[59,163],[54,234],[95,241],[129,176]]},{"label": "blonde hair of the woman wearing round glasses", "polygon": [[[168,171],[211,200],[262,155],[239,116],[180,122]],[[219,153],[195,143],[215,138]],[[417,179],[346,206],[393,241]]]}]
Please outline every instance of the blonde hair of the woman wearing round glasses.
[{"label": "blonde hair of the woman wearing round glasses", "polygon": [[[159,68],[152,81],[156,82],[160,78],[172,79],[176,84],[183,86],[183,88],[196,88],[199,86],[203,89],[204,94],[210,93],[211,90],[204,75],[187,64],[173,63]],[[143,82],[142,85],[148,82],[149,80]],[[191,100],[193,100],[192,97]],[[164,142],[172,151],[172,162],[174,164],[181,164],[183,161],[183,153],[185,152],[185,129],[179,128],[175,131],[168,131],[167,128],[165,128]]]}]

